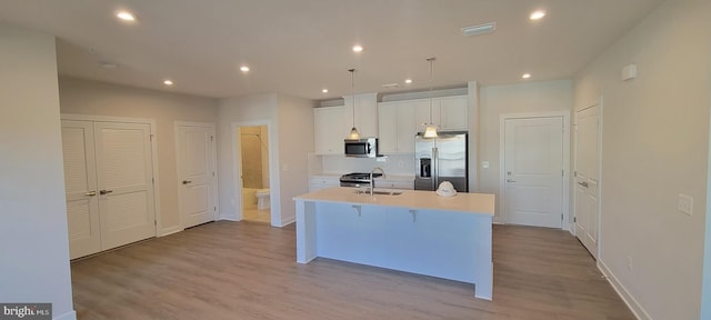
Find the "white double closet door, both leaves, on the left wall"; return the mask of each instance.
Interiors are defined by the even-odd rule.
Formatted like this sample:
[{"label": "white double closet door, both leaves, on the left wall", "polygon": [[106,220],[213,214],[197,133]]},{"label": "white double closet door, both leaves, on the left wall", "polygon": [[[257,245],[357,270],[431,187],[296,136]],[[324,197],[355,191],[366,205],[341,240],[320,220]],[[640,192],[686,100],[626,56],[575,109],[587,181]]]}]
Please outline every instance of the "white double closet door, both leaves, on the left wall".
[{"label": "white double closet door, both leaves, on the left wall", "polygon": [[62,120],[71,259],[156,237],[151,124]]}]

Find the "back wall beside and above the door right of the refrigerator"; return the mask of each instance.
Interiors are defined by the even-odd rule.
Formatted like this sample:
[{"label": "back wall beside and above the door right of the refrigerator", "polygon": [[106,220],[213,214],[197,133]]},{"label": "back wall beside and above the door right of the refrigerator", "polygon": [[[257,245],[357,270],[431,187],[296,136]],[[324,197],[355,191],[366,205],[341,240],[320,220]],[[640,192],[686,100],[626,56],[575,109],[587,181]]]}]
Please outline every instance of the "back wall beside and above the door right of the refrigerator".
[{"label": "back wall beside and above the door right of the refrigerator", "polygon": [[[479,88],[479,188],[478,192],[501,196],[499,190],[500,118],[508,113],[570,111],[573,107],[571,80],[525,82]],[[481,168],[489,161],[489,169]],[[470,169],[471,170],[471,169]],[[501,221],[497,208],[494,221]]]}]

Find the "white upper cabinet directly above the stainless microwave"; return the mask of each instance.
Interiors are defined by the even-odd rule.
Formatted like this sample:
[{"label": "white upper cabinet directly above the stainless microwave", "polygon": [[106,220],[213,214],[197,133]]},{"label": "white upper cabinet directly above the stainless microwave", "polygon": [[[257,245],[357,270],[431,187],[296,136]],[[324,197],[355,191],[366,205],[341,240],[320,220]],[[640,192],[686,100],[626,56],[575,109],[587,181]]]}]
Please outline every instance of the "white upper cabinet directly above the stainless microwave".
[{"label": "white upper cabinet directly above the stainless microwave", "polygon": [[[346,96],[343,97],[343,121],[348,127],[347,132],[350,132],[353,122],[356,122],[360,137],[378,137],[378,93],[356,94],[354,103],[353,96]],[[356,112],[353,112],[353,106],[356,107]],[[346,136],[341,137],[341,140],[344,138]]]}]

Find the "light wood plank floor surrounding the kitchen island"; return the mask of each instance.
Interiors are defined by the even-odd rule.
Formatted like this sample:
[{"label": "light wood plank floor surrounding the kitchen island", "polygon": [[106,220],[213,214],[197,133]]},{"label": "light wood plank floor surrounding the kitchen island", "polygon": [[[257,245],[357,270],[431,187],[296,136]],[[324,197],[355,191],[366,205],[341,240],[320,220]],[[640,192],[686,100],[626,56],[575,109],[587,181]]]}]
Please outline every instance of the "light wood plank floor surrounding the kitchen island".
[{"label": "light wood plank floor surrounding the kitchen island", "polygon": [[634,319],[561,230],[493,227],[493,301],[473,286],[328,259],[293,224],[208,223],[71,264],[89,319]]}]

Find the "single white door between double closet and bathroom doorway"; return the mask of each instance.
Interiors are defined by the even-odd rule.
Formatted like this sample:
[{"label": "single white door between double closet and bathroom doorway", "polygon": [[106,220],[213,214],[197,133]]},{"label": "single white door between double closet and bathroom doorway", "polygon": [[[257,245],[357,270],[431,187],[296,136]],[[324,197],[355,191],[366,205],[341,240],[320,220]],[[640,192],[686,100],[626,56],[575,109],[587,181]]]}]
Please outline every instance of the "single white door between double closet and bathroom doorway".
[{"label": "single white door between double closet and bathroom doorway", "polygon": [[214,128],[178,126],[180,219],[190,228],[217,219]]}]

